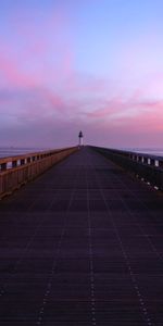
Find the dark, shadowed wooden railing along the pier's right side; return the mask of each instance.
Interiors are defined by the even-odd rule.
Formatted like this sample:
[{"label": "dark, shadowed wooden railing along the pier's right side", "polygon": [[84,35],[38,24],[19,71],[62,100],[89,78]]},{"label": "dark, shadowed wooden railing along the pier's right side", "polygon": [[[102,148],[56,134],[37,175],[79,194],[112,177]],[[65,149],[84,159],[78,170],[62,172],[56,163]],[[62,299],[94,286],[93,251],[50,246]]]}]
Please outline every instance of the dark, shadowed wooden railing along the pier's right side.
[{"label": "dark, shadowed wooden railing along the pier's right side", "polygon": [[152,185],[155,189],[163,190],[162,156],[100,147],[92,148],[126,171],[134,173],[142,181]]}]

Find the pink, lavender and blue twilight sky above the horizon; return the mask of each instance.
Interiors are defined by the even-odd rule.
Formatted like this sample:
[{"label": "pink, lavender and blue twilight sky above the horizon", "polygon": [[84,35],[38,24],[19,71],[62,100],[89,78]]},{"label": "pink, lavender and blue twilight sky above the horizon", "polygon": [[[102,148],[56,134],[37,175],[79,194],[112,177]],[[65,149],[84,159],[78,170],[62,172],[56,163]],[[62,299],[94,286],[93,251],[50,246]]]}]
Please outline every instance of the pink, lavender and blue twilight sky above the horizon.
[{"label": "pink, lavender and blue twilight sky above the horizon", "polygon": [[163,147],[162,0],[0,0],[0,146]]}]

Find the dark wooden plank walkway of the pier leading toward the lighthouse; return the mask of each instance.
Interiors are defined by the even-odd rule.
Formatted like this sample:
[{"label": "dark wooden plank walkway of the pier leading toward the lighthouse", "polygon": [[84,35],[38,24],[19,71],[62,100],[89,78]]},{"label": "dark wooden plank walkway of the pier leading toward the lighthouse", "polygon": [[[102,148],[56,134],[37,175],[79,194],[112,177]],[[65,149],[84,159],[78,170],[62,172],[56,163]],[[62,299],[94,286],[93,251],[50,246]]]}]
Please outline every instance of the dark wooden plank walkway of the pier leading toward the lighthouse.
[{"label": "dark wooden plank walkway of the pier leading toward the lighthouse", "polygon": [[0,325],[162,326],[163,195],[86,147],[3,199]]}]

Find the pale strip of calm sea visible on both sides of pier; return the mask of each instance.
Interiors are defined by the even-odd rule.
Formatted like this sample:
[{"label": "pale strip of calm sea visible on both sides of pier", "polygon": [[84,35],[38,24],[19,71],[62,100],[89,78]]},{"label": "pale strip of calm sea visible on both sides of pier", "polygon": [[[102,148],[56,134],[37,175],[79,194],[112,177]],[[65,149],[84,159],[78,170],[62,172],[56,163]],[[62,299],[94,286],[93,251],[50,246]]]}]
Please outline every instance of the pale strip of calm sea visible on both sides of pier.
[{"label": "pale strip of calm sea visible on both sides of pier", "polygon": [[[120,150],[131,151],[136,153],[151,154],[163,156],[163,148],[118,148]],[[16,147],[0,147],[0,158],[16,156],[26,153],[50,150],[49,148],[16,148]]]}]

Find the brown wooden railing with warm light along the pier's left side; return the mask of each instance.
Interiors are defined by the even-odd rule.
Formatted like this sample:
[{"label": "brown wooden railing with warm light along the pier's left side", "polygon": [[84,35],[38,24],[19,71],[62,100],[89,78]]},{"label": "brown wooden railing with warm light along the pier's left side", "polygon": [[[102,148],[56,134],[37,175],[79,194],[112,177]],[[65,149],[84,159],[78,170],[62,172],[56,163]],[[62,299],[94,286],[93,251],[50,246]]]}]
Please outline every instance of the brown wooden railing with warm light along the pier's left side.
[{"label": "brown wooden railing with warm light along the pier's left side", "polygon": [[0,199],[75,151],[77,147],[0,159]]}]

